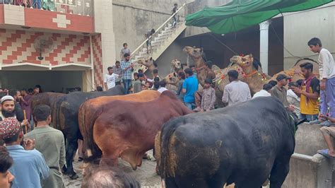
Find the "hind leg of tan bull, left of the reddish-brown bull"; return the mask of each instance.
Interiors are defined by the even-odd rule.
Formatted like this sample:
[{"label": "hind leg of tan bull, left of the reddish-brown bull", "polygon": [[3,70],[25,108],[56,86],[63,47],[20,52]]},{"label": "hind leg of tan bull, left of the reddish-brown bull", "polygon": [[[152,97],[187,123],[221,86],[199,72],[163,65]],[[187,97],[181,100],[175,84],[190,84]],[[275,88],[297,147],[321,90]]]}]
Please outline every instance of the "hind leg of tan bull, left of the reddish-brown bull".
[{"label": "hind leg of tan bull, left of the reddish-brown bull", "polygon": [[[102,152],[93,139],[93,127],[95,120],[102,114],[102,107],[94,112],[90,111],[90,105],[83,103],[78,112],[78,124],[83,136],[83,153],[85,161],[93,161],[100,158]],[[94,108],[93,108],[94,109]]]}]

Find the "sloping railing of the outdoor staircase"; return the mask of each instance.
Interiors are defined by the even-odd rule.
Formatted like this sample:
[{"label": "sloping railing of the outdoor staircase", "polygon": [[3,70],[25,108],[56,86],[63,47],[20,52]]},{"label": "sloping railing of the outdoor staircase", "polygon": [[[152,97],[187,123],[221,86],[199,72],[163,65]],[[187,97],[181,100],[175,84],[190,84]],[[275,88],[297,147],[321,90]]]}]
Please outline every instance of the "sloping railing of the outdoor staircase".
[{"label": "sloping railing of the outdoor staircase", "polygon": [[[147,48],[147,46],[149,46],[149,48],[151,48],[151,40],[153,40],[155,37],[158,37],[158,34],[162,33],[162,31],[165,29],[165,27],[167,27],[168,25],[175,25],[175,27],[177,28],[178,25],[184,21],[184,18],[186,16],[186,3],[184,3],[182,6],[180,6],[177,11],[175,13],[173,13],[169,18],[167,18],[167,20],[165,20],[165,22],[160,25],[159,28],[157,28],[157,30],[155,30],[155,33],[153,33],[150,37],[147,37],[146,40],[144,40],[141,45],[139,45],[139,47],[137,47],[134,52],[131,52],[131,59],[135,59],[136,55],[139,54],[140,50],[143,48]],[[175,22],[177,21],[177,22]],[[175,22],[175,23],[174,23]],[[151,55],[153,53],[153,50],[148,49],[147,54]]]}]

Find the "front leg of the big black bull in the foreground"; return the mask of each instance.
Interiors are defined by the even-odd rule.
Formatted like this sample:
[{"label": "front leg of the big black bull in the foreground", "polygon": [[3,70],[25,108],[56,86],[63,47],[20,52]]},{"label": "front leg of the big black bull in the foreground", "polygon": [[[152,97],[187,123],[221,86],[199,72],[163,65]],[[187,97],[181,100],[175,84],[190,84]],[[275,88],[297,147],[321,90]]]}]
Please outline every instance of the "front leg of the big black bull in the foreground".
[{"label": "front leg of the big black bull in the foreground", "polygon": [[281,188],[289,170],[290,158],[282,161],[275,161],[270,175],[270,188]]}]

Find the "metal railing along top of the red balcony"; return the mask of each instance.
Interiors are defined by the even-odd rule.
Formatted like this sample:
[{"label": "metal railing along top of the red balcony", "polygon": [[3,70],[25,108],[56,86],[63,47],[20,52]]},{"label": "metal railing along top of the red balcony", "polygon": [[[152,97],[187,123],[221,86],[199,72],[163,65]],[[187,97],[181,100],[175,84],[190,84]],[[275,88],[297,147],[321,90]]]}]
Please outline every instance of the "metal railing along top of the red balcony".
[{"label": "metal railing along top of the red balcony", "polygon": [[93,16],[93,0],[0,0],[0,4]]}]

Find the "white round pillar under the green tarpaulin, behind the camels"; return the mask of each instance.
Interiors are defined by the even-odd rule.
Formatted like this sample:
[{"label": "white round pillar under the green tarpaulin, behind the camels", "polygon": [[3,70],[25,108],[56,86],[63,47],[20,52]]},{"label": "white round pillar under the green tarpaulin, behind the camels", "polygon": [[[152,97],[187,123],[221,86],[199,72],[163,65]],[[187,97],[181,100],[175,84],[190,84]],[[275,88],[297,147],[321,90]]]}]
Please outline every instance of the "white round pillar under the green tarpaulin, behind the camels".
[{"label": "white round pillar under the green tarpaulin, behind the camels", "polygon": [[259,23],[259,61],[265,74],[269,72],[269,25],[271,20]]}]

